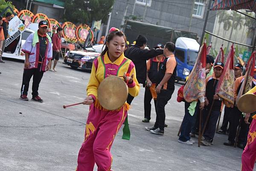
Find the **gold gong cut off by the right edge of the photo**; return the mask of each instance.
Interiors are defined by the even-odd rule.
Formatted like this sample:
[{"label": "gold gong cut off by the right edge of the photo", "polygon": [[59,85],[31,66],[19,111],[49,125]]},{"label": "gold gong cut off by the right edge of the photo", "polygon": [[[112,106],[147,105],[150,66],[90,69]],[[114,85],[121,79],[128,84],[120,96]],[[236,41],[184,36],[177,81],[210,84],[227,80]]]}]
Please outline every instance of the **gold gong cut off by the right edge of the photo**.
[{"label": "gold gong cut off by the right edge of the photo", "polygon": [[244,94],[237,103],[238,109],[243,113],[253,113],[256,111],[256,95]]}]

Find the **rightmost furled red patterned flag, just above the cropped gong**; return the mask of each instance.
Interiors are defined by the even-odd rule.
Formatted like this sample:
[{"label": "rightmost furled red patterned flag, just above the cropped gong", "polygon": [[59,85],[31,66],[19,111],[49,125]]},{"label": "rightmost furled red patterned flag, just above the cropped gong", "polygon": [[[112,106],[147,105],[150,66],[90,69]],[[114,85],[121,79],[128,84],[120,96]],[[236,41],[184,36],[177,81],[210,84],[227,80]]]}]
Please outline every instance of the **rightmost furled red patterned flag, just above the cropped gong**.
[{"label": "rightmost furled red patterned flag, just above the cropped gong", "polygon": [[253,52],[252,55],[250,56],[248,63],[247,63],[246,73],[244,75],[244,81],[241,85],[239,92],[237,93],[236,102],[238,102],[239,97],[241,97],[243,94],[247,93],[252,88],[253,76],[254,76],[255,55],[256,55],[256,52]]}]

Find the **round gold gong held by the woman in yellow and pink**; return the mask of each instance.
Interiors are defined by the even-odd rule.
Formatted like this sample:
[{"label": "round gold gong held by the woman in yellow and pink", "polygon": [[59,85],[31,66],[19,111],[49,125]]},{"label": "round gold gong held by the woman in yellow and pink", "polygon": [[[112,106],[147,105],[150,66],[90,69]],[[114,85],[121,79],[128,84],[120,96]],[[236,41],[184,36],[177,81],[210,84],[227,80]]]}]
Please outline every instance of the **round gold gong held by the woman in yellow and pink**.
[{"label": "round gold gong held by the woman in yellow and pink", "polygon": [[128,87],[118,76],[105,78],[98,88],[99,103],[108,110],[116,110],[125,104],[128,97]]}]

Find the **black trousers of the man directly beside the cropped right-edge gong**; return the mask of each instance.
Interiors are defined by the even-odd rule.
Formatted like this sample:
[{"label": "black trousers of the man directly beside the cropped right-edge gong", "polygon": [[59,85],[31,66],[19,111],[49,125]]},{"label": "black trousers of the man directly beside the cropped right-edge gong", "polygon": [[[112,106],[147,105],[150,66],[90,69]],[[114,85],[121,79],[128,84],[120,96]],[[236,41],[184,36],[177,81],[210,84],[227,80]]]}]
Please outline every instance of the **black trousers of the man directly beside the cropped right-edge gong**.
[{"label": "black trousers of the man directly beside the cropped right-edge gong", "polygon": [[247,132],[249,130],[249,125],[247,125],[244,122],[242,113],[240,112],[240,110],[237,107],[233,107],[231,109],[229,120],[230,120],[230,127],[229,127],[229,133],[228,133],[228,140],[230,140],[231,142],[235,142],[236,131],[240,124],[241,129],[240,129],[240,133],[238,136],[238,143],[244,144],[247,140]]}]

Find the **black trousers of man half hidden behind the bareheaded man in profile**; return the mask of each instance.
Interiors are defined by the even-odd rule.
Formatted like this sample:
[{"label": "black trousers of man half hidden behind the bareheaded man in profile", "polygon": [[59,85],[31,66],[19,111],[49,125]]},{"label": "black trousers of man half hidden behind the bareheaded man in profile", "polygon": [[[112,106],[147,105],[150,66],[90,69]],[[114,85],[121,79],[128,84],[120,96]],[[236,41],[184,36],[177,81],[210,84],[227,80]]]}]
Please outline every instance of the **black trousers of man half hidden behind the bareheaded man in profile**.
[{"label": "black trousers of man half hidden behind the bareheaded man in profile", "polygon": [[[144,94],[144,118],[147,118],[148,120],[150,120],[150,116],[151,116],[151,100],[152,100],[152,95],[150,92],[149,87],[145,87],[145,94]],[[154,106],[156,109],[156,113],[157,113],[157,101],[154,100]]]}]

